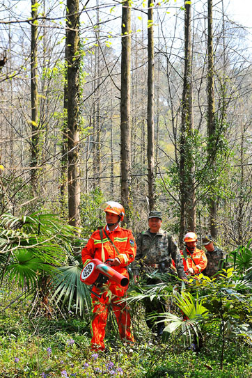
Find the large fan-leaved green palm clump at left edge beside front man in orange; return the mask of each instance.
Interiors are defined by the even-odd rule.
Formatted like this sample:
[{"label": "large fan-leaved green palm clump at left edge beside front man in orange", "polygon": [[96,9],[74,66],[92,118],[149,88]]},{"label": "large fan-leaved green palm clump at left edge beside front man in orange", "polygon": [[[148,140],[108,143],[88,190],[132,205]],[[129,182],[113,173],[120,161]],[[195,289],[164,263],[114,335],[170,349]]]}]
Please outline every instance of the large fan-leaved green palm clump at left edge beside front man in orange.
[{"label": "large fan-leaved green palm clump at left edge beside front man in orange", "polygon": [[[76,298],[76,312],[90,310],[88,289],[79,281],[81,267],[74,257],[74,246],[84,240],[77,230],[54,214],[16,217],[0,216],[0,275],[39,297],[42,292],[57,303],[69,298],[68,309]],[[45,277],[47,277],[45,279]],[[41,290],[41,283],[46,290]],[[57,297],[58,296],[58,297]],[[64,300],[64,303],[65,303]]]}]

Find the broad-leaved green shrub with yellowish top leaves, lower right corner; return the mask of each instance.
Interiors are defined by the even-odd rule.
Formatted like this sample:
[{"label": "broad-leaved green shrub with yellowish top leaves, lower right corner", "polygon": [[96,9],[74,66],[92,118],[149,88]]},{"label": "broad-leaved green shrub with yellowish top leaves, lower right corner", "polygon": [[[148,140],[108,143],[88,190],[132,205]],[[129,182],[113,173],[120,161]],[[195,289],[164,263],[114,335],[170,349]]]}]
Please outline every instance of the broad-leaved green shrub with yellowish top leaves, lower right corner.
[{"label": "broad-leaved green shrub with yellowish top leaves, lower right corner", "polygon": [[[218,280],[203,281],[203,304],[208,322],[219,325],[221,340],[221,369],[223,368],[226,340],[242,338],[252,345],[251,337],[251,282],[246,281],[233,268],[223,269]],[[201,288],[202,290],[202,288]]]}]

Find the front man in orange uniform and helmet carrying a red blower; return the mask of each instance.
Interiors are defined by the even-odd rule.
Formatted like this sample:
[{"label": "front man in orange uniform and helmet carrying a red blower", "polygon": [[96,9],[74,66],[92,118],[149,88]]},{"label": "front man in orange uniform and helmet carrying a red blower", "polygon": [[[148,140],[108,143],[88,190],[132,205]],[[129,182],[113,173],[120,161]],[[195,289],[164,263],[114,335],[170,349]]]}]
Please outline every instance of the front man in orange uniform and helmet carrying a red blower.
[{"label": "front man in orange uniform and helmet carrying a red blower", "polygon": [[[111,260],[111,267],[123,276],[129,278],[127,265],[136,256],[136,242],[131,230],[120,228],[119,222],[123,221],[125,210],[120,203],[109,201],[104,209],[107,226],[102,230],[96,230],[82,249],[81,256],[84,264],[93,258],[102,262]],[[119,328],[120,338],[129,343],[134,342],[130,331],[130,315],[125,299],[127,287],[123,288],[109,279],[107,283],[98,283],[91,294],[93,303],[93,337],[91,349],[104,350],[105,327],[109,308],[113,309]]]}]

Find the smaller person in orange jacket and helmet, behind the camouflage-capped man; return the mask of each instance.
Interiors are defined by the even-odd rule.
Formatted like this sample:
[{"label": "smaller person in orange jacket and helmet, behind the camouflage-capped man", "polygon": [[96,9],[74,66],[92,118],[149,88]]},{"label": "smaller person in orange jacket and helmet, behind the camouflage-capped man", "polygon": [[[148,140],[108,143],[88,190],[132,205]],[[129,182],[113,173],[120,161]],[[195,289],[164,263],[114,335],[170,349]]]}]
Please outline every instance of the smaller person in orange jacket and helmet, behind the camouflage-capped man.
[{"label": "smaller person in orange jacket and helmet, behind the camouflage-capped man", "polygon": [[[196,247],[198,237],[195,233],[184,235],[184,249],[180,251],[187,276],[200,274],[207,266],[207,256],[202,249]],[[173,262],[173,267],[175,264]]]}]

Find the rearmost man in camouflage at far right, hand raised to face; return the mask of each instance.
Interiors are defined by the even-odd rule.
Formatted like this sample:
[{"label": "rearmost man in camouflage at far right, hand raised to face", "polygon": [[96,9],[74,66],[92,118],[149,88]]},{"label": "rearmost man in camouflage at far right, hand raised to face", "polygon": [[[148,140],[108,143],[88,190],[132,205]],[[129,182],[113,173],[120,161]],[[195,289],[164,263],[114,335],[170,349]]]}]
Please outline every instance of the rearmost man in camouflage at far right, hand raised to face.
[{"label": "rearmost man in camouflage at far right, hand raised to face", "polygon": [[202,239],[202,245],[207,250],[205,255],[207,256],[207,267],[203,271],[204,276],[216,277],[221,269],[225,268],[226,254],[214,246],[214,242],[211,235],[206,235]]}]

